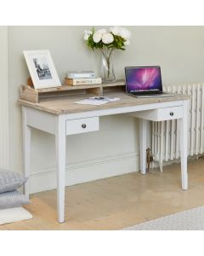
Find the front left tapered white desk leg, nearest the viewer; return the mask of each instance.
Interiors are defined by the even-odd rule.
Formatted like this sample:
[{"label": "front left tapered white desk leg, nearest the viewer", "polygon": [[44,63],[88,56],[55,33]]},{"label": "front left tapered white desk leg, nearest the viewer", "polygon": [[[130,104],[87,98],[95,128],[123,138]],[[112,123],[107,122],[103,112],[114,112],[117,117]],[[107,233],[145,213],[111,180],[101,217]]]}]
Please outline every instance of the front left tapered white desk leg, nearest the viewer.
[{"label": "front left tapered white desk leg, nearest the viewer", "polygon": [[58,221],[65,221],[65,117],[55,117]]}]

